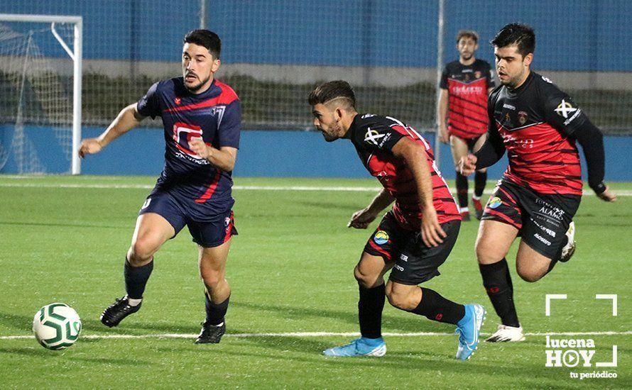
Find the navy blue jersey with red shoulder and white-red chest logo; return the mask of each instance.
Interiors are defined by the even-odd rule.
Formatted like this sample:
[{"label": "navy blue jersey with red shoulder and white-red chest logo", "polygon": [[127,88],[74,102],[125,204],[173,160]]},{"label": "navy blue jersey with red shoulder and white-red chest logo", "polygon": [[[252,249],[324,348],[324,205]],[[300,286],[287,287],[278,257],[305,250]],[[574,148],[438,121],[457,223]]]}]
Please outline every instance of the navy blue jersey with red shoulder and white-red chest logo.
[{"label": "navy blue jersey with red shoulder and white-red chest logo", "polygon": [[205,213],[230,208],[231,172],[214,167],[189,149],[189,141],[202,138],[207,145],[239,147],[241,106],[235,91],[214,80],[202,94],[188,91],[182,77],[153,84],[138,101],[138,113],[163,119],[165,167],[156,188],[185,201],[204,205]]}]

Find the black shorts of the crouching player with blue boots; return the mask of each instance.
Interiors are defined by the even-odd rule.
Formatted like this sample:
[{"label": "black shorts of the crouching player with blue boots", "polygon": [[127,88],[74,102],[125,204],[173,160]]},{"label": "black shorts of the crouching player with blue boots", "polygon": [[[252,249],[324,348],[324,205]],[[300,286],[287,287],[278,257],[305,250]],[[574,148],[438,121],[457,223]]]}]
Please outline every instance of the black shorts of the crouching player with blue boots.
[{"label": "black shorts of the crouching player with blue boots", "polygon": [[439,246],[427,247],[418,230],[402,228],[389,211],[364,245],[364,252],[383,257],[385,262],[394,261],[388,279],[415,286],[439,275],[438,268],[457,242],[460,227],[461,221],[442,223],[447,237]]}]

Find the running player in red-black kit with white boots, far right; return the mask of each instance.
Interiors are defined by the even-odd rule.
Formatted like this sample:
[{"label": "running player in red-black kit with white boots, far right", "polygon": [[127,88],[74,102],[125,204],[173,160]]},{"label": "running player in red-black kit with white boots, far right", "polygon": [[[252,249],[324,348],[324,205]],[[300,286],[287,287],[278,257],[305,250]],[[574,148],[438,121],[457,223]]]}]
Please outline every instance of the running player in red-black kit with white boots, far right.
[{"label": "running player in red-black kit with white boots, far right", "polygon": [[588,183],[604,201],[616,196],[604,184],[603,136],[570,97],[546,77],[530,71],[533,29],[504,26],[491,41],[501,86],[489,96],[487,141],[461,160],[462,173],[494,165],[508,153],[509,166],[485,207],[476,239],[483,284],[501,318],[487,341],[522,341],[505,259],[521,235],[516,271],[535,282],[574,253],[572,218],[582,197],[575,140],[582,145]]}]

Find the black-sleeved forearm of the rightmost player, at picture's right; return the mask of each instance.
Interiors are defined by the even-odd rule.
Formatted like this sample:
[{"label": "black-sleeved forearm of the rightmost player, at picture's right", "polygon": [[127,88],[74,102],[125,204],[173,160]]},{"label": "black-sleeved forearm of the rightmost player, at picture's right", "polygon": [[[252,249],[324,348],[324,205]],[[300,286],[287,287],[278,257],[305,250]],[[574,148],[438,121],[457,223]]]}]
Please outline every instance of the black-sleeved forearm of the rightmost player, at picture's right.
[{"label": "black-sleeved forearm of the rightmost player, at picture's right", "polygon": [[604,152],[604,135],[590,121],[585,121],[573,133],[579,145],[582,145],[588,169],[588,185],[598,194],[606,187],[603,184],[606,155]]}]

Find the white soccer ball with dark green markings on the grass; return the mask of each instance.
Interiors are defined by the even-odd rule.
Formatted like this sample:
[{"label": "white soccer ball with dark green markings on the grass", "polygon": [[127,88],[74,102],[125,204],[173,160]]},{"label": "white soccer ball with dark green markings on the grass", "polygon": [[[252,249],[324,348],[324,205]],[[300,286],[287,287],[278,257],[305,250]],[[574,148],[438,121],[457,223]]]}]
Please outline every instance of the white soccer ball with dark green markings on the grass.
[{"label": "white soccer ball with dark green markings on the grass", "polygon": [[49,350],[62,350],[75,344],[81,333],[81,319],[65,303],[50,303],[33,317],[33,334]]}]

